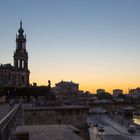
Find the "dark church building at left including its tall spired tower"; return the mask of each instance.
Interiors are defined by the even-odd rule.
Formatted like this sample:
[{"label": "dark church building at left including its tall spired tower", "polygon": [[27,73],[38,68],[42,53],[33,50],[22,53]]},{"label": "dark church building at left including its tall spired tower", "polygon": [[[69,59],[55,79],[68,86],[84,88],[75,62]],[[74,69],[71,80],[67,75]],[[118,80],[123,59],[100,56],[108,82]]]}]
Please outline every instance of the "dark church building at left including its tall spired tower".
[{"label": "dark church building at left including its tall spired tower", "polygon": [[26,35],[23,34],[22,21],[16,35],[14,66],[10,63],[0,65],[0,86],[29,86],[28,52],[26,51]]}]

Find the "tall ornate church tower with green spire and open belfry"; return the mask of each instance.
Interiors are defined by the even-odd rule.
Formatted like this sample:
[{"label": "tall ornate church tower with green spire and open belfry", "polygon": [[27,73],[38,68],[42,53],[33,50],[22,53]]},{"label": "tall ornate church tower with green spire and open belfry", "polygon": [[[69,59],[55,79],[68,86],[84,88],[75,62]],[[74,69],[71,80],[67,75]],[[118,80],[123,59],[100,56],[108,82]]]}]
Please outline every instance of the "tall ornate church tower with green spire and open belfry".
[{"label": "tall ornate church tower with green spire and open belfry", "polygon": [[26,35],[23,34],[22,21],[16,35],[16,50],[14,52],[14,68],[16,86],[29,86],[28,52],[26,51]]}]

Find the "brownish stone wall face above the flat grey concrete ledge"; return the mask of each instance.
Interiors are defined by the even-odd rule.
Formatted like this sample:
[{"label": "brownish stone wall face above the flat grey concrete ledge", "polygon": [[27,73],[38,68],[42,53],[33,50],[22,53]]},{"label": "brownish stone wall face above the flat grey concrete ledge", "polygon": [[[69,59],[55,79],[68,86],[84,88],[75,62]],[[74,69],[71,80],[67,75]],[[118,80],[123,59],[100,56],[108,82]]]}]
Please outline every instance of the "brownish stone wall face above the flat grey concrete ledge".
[{"label": "brownish stone wall face above the flat grey concrete ledge", "polygon": [[85,127],[87,122],[86,107],[48,107],[32,108],[24,111],[25,125],[71,124]]}]

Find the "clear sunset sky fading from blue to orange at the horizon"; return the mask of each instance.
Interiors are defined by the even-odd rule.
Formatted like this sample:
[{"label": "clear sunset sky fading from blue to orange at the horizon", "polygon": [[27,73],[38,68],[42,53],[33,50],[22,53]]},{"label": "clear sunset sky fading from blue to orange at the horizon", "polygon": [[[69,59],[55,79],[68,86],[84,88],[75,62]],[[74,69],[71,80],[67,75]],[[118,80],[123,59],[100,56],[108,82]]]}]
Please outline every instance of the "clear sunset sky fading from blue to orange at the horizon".
[{"label": "clear sunset sky fading from blue to orange at the horizon", "polygon": [[0,63],[13,64],[20,20],[30,83],[80,90],[140,86],[140,0],[0,0]]}]

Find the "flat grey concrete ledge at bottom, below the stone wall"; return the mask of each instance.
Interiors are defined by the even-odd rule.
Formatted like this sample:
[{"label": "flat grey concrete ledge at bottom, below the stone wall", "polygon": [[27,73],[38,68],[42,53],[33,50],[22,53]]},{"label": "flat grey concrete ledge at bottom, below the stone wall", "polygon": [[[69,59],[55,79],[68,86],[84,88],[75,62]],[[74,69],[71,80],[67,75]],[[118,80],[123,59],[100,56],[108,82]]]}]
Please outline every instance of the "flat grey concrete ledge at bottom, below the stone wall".
[{"label": "flat grey concrete ledge at bottom, below the stone wall", "polygon": [[18,140],[84,140],[72,125],[23,125],[15,131]]}]

